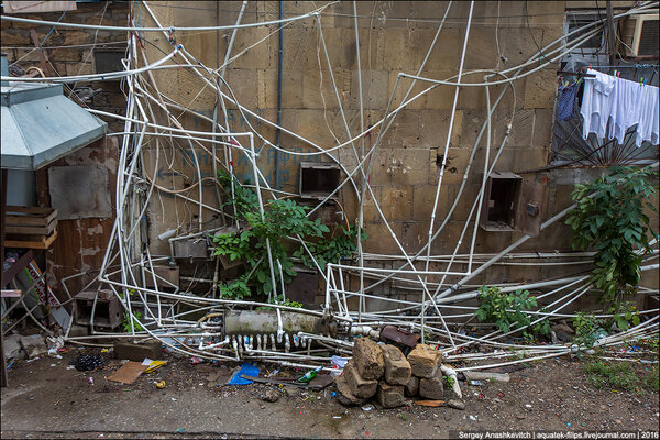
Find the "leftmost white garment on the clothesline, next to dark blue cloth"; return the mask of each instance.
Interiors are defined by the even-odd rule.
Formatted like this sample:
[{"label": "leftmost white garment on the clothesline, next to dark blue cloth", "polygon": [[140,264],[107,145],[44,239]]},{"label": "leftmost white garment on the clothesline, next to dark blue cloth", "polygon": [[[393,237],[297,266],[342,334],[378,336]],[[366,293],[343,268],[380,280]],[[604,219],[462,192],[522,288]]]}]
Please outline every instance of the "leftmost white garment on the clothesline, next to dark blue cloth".
[{"label": "leftmost white garment on the clothesline, next to dark blue cloth", "polygon": [[594,75],[595,78],[584,78],[582,107],[580,108],[583,119],[582,138],[586,139],[588,133],[596,133],[596,139],[601,142],[606,134],[616,78],[591,68],[586,73]]}]

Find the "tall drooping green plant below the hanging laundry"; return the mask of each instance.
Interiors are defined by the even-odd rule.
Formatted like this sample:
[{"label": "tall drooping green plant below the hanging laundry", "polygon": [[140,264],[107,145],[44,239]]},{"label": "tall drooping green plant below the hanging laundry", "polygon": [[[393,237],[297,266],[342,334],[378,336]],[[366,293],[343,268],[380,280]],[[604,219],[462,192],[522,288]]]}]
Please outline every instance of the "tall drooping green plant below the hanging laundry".
[{"label": "tall drooping green plant below the hanging laundry", "polygon": [[604,310],[614,306],[619,314],[623,298],[636,292],[644,253],[651,252],[649,235],[658,237],[645,213],[658,212],[650,201],[657,178],[651,167],[614,167],[591,184],[576,185],[572,194],[578,206],[566,224],[573,230],[573,249],[595,249],[591,280],[603,292]]}]

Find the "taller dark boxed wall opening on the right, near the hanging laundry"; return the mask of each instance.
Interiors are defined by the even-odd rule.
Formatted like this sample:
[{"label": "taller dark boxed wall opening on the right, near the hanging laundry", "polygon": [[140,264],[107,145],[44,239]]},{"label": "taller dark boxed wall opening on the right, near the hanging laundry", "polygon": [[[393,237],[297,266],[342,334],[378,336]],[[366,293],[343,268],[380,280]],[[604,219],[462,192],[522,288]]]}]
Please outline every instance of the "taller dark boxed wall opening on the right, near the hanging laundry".
[{"label": "taller dark boxed wall opening on the right, near the hanging laundry", "polygon": [[513,231],[522,177],[509,172],[493,172],[486,180],[480,227],[486,231]]}]

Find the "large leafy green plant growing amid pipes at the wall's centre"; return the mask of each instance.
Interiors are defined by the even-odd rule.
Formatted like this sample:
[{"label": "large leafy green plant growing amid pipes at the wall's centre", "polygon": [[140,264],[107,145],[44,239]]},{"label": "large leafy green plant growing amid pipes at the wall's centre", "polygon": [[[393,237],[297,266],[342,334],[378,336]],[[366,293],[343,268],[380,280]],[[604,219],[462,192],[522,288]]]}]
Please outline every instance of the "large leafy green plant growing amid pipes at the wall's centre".
[{"label": "large leafy green plant growing amid pipes at the wall's centre", "polygon": [[[250,285],[255,286],[257,294],[271,294],[273,278],[276,283],[275,289],[278,289],[283,279],[287,284],[296,276],[292,256],[297,256],[307,266],[316,268],[302,246],[290,252],[293,240],[289,238],[292,237],[299,235],[307,243],[321,270],[324,270],[327,263],[338,262],[355,251],[355,243],[352,242],[355,238],[354,232],[339,228],[339,231],[336,229],[329,238],[326,238],[330,229],[322,224],[320,219],[310,220],[306,216],[309,208],[298,205],[295,200],[284,198],[271,200],[264,206],[262,216],[256,193],[239,185],[235,179],[232,182],[224,173],[220,174],[219,179],[229,199],[224,206],[235,206],[238,220],[245,226],[242,231],[218,234],[213,238],[215,255],[228,255],[230,261],[245,262],[244,273],[237,280],[220,284],[220,293],[223,297],[235,299],[248,297],[251,295]],[[233,191],[228,189],[232,188],[232,185]],[[271,245],[274,264],[273,276],[267,242]],[[274,297],[272,300],[277,301],[277,298]]]}]

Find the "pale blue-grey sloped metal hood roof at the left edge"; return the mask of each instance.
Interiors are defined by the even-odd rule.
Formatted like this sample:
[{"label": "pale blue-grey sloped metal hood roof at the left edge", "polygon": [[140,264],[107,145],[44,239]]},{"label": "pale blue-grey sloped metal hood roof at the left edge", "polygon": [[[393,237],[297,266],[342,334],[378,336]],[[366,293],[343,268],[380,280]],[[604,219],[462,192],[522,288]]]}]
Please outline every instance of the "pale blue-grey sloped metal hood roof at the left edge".
[{"label": "pale blue-grey sloped metal hood roof at the left edge", "polygon": [[108,124],[62,94],[62,85],[2,84],[2,168],[38,169],[100,138]]}]

